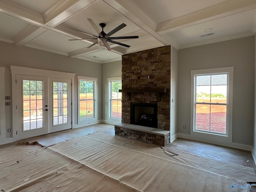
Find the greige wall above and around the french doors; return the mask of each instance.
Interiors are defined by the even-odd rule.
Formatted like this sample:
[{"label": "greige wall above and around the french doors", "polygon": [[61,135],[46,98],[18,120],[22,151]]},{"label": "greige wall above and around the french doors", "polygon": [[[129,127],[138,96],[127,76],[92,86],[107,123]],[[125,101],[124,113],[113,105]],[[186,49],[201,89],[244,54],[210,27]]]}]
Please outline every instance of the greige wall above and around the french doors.
[{"label": "greige wall above and around the french doors", "polygon": [[[10,65],[38,68],[45,70],[75,73],[78,76],[89,76],[98,78],[98,120],[102,120],[102,64],[69,58],[67,56],[54,54],[28,47],[15,46],[14,44],[0,41],[0,66],[5,68],[5,96],[12,95]],[[76,77],[75,77],[76,78]],[[75,80],[75,100],[77,101],[77,81]],[[1,98],[3,99],[3,98]],[[11,100],[12,102],[12,100]],[[77,116],[77,102],[75,103],[75,116]],[[5,106],[5,127],[11,129],[5,138],[12,138],[16,130],[12,130],[12,106]],[[75,122],[76,125],[77,122]],[[2,143],[2,141],[1,141]]]}]

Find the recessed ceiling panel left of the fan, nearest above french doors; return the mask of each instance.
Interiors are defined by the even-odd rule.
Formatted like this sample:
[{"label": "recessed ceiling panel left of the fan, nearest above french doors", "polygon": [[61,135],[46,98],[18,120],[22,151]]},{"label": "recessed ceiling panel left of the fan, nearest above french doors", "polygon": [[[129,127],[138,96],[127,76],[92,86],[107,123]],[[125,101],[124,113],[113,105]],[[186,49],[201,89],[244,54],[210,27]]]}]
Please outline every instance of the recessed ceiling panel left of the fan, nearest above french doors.
[{"label": "recessed ceiling panel left of the fan, nearest above french doors", "polygon": [[69,52],[79,50],[90,45],[86,42],[69,41],[68,39],[70,39],[70,37],[48,30],[27,43],[26,46],[68,55]]}]

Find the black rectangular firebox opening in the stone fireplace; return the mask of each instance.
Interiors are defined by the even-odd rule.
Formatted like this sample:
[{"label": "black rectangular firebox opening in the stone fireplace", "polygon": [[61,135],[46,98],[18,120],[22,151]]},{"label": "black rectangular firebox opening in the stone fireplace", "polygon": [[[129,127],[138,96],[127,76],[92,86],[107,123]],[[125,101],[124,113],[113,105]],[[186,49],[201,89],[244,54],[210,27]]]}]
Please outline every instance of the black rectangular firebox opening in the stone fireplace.
[{"label": "black rectangular firebox opening in the stone fireplace", "polygon": [[132,102],[131,124],[157,128],[157,104]]}]

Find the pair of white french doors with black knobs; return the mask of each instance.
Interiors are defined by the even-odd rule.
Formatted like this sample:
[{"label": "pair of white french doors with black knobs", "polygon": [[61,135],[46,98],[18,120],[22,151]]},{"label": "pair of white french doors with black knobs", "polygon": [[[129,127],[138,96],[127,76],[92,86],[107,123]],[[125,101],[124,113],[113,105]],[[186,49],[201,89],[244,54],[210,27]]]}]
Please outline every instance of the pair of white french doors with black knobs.
[{"label": "pair of white french doors with black knobs", "polygon": [[71,80],[16,75],[17,139],[72,128]]}]

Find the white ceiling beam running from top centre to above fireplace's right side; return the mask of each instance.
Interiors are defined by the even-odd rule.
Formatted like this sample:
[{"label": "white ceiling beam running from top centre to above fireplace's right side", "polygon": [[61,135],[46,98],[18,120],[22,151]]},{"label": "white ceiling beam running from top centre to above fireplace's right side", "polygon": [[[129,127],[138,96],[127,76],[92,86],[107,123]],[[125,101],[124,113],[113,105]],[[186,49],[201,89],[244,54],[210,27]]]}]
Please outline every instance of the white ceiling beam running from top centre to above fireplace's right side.
[{"label": "white ceiling beam running from top centre to above fireplace's right side", "polygon": [[144,12],[134,4],[132,1],[128,0],[102,0],[116,12],[122,16],[128,18],[131,22],[139,26],[142,30],[153,36],[156,40],[162,43],[162,45],[167,45],[168,42],[164,40],[159,34],[156,33],[157,24],[152,21]]}]

